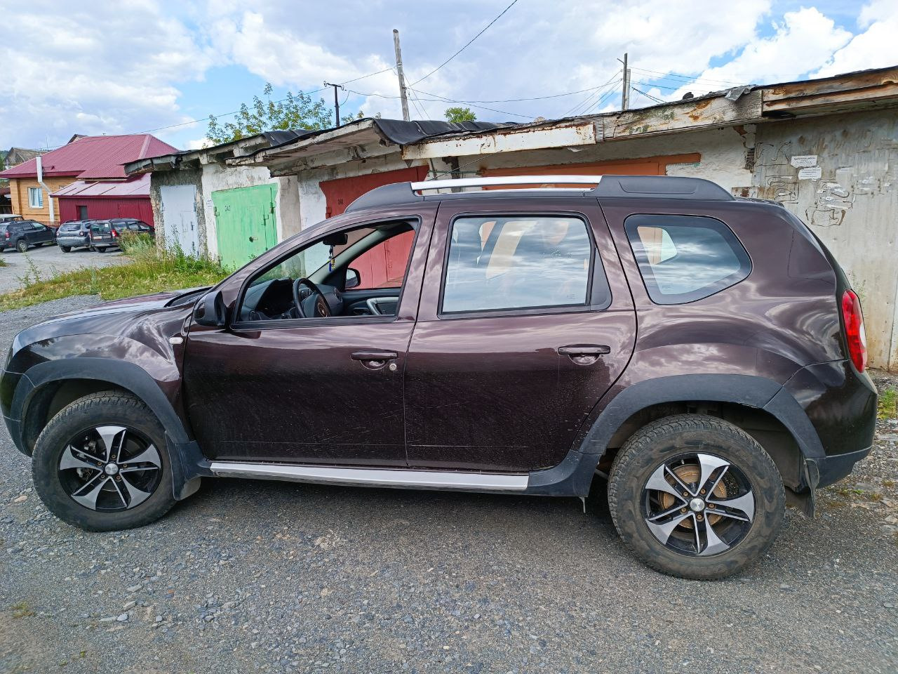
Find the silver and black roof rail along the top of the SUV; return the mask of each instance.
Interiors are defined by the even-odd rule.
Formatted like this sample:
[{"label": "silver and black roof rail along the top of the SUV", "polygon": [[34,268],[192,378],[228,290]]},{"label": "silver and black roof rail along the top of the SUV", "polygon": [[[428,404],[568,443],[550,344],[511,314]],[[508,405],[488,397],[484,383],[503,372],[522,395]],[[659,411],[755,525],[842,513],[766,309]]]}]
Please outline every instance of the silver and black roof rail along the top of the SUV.
[{"label": "silver and black roof rail along the top of the SUV", "polygon": [[[735,197],[718,185],[703,178],[689,178],[668,175],[512,175],[483,178],[459,178],[454,180],[432,180],[419,182],[393,182],[365,192],[346,208],[347,211],[363,208],[378,208],[416,201],[427,197],[423,191],[462,191],[471,187],[503,187],[527,185],[536,186],[538,191],[577,191],[585,197],[622,199],[691,199],[711,201],[732,201]],[[551,185],[593,185],[586,187],[551,187]],[[529,188],[533,193],[534,188]],[[463,192],[465,196],[495,196],[496,192],[521,190],[489,190]],[[445,193],[432,195],[440,198]]]}]

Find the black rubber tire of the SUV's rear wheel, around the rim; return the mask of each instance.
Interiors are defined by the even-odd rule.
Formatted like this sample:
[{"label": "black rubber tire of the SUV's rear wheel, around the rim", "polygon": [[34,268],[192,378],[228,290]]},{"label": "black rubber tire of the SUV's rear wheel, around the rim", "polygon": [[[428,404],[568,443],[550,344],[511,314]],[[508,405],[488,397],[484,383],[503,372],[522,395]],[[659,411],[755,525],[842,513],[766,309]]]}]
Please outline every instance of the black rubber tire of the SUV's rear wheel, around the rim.
[{"label": "black rubber tire of the SUV's rear wheel, around the rim", "polygon": [[[741,537],[734,537],[735,542],[725,551],[708,556],[688,554],[665,545],[649,529],[645,510],[650,502],[648,494],[663,496],[662,492],[651,491],[647,487],[649,478],[657,474],[660,466],[666,465],[666,462],[685,462],[688,459],[680,457],[691,454],[698,456],[698,453],[725,460],[730,464],[726,471],[747,479],[753,493],[753,520],[738,525],[741,528],[747,527],[747,531],[741,531]],[[732,470],[733,466],[735,470]],[[669,482],[675,487],[673,481]],[[700,486],[698,484],[695,487],[696,492]],[[711,493],[703,498],[710,503],[715,496]],[[681,501],[687,501],[683,505],[691,503],[688,499]],[[672,502],[674,508],[671,510],[676,510],[680,504]],[[624,543],[640,560],[653,569],[694,580],[725,578],[759,560],[779,533],[785,505],[782,478],[764,448],[744,430],[733,424],[701,414],[667,417],[653,421],[638,430],[615,457],[608,480],[608,507],[614,526]],[[667,507],[669,506],[670,503]],[[719,505],[717,507],[720,508]],[[679,512],[687,513],[685,516],[687,518],[693,515],[688,507],[682,508]],[[700,523],[692,519],[690,523],[682,520],[686,521],[686,527],[690,527],[689,536],[694,534],[700,538],[700,533],[691,531],[691,524],[699,531],[706,530],[706,527],[711,528],[709,526],[712,524],[711,519],[719,510],[701,512],[709,513],[705,518],[707,522],[702,520]],[[674,516],[667,521],[679,517],[679,513],[674,513]],[[697,517],[701,520],[700,514]],[[736,526],[735,520],[717,516],[716,521],[724,522],[724,527]],[[678,536],[682,537],[682,540],[686,539],[682,531]],[[708,545],[711,543],[707,537],[706,542]]]}]

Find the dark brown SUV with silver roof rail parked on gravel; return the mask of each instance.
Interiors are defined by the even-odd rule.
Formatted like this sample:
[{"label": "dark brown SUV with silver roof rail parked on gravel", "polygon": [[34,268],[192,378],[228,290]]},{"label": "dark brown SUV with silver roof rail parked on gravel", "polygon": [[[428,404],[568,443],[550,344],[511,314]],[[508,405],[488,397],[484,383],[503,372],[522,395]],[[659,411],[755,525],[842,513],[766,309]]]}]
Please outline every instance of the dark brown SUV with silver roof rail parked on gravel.
[{"label": "dark brown SUV with silver roof rail parked on gravel", "polygon": [[718,578],[870,451],[864,339],[777,204],[691,178],[406,182],[215,288],[22,331],[0,401],[82,528],[215,475],[580,498],[598,475],[643,561]]}]

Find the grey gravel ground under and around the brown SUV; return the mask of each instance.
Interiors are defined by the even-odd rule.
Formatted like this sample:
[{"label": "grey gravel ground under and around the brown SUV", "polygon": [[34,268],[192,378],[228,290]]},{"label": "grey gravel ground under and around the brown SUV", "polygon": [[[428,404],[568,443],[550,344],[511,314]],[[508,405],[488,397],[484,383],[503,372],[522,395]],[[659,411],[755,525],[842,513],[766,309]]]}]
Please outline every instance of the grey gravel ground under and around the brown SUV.
[{"label": "grey gravel ground under and around the brown SUV", "polygon": [[[92,297],[0,315],[13,334]],[[886,383],[898,386],[898,378]],[[3,672],[898,671],[898,425],[743,575],[682,581],[579,501],[207,480],[153,525],[48,513],[0,431]]]}]

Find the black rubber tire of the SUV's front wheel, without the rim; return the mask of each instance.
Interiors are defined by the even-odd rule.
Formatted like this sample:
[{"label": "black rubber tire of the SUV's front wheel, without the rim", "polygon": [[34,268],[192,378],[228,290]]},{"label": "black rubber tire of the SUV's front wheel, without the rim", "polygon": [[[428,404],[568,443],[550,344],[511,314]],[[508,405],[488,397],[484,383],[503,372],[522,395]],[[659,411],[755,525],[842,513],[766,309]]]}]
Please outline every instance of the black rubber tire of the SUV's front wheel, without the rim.
[{"label": "black rubber tire of the SUV's front wheel, without the rim", "polygon": [[[107,424],[126,427],[152,442],[162,464],[162,474],[152,494],[128,510],[91,510],[74,501],[66,492],[58,469],[63,452],[76,435]],[[48,510],[57,518],[88,531],[143,527],[161,518],[175,503],[163,425],[134,395],[118,391],[86,395],[53,417],[35,444],[31,472],[35,490]]]}]

